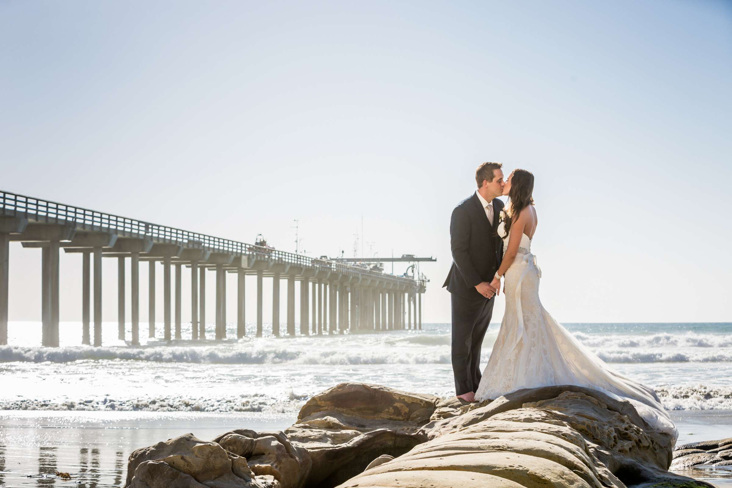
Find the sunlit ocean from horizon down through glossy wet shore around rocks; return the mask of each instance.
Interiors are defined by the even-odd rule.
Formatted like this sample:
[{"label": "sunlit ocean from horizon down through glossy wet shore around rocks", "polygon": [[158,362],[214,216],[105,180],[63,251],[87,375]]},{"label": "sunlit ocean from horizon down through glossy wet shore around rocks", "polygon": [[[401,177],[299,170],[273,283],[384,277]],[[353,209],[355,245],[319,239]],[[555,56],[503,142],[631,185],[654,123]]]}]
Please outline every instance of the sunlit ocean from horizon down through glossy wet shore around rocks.
[{"label": "sunlit ocean from horizon down through glossy wet shore around rocks", "polygon": [[[732,437],[732,323],[564,325],[610,369],[656,389],[679,443]],[[484,363],[498,327],[486,334]],[[190,337],[190,324],[182,329]],[[0,486],[119,487],[135,448],[185,432],[283,429],[307,398],[345,381],[454,394],[444,323],[259,339],[247,324],[239,340],[229,324],[225,342],[141,337],[137,348],[112,339],[116,322],[103,324],[103,348],[81,345],[80,323],[61,323],[60,348],[38,347],[40,330],[10,323],[10,345],[0,346]],[[700,473],[721,486],[730,472]]]}]

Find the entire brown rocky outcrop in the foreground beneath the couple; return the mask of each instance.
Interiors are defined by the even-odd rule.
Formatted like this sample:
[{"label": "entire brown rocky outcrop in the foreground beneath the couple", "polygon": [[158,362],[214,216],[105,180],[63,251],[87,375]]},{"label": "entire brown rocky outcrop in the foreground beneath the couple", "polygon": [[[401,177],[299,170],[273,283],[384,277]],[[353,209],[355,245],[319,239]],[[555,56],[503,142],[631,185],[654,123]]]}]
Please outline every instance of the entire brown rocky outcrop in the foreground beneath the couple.
[{"label": "entire brown rocky outcrop in the foreground beneath the couple", "polygon": [[[728,441],[674,457],[725,457]],[[672,450],[629,402],[589,388],[466,404],[342,383],[311,398],[284,432],[240,429],[208,442],[187,434],[138,449],[127,486],[711,486],[668,472]]]}]

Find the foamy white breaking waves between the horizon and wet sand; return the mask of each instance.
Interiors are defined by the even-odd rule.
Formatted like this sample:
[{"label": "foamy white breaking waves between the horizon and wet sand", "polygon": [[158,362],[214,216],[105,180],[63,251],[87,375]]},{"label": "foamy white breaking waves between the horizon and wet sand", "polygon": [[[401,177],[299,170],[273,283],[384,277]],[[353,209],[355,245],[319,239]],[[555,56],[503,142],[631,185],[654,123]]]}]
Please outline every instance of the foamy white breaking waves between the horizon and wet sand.
[{"label": "foamy white breaking waves between the horizon and wet sand", "polygon": [[[243,339],[170,345],[146,339],[146,324],[141,325],[139,347],[110,339],[117,335],[116,323],[104,324],[103,348],[79,344],[80,323],[61,323],[61,348],[40,348],[40,323],[10,323],[10,345],[0,347],[0,410],[295,415],[304,399],[343,381],[441,397],[453,393],[447,324],[426,324],[423,331],[259,339],[248,324]],[[567,328],[608,367],[656,388],[669,410],[732,409],[732,324]],[[492,324],[484,363],[497,332],[498,324]],[[189,324],[182,333],[190,337]],[[234,324],[228,337],[236,337]]]}]

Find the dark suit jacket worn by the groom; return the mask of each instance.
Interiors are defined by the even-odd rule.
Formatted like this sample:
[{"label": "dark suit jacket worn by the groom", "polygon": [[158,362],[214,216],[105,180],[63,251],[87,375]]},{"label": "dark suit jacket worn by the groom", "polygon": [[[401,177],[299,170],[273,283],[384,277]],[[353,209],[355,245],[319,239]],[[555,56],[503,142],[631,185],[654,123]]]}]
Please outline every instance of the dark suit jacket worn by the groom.
[{"label": "dark suit jacket worn by the groom", "polygon": [[503,240],[498,236],[498,215],[504,203],[493,199],[493,225],[490,225],[478,195],[473,193],[455,207],[450,217],[452,267],[443,287],[467,299],[485,299],[475,286],[493,281],[501,266]]}]

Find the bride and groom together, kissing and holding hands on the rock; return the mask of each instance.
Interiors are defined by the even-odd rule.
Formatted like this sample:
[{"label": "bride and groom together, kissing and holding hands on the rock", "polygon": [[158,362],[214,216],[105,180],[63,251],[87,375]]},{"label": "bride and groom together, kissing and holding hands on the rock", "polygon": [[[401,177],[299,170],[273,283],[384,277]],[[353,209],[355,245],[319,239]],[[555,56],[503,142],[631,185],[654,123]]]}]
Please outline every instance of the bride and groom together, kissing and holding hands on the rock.
[{"label": "bride and groom together, kissing and holding hands on the rock", "polygon": [[[651,428],[678,437],[655,391],[608,369],[542,307],[542,273],[531,253],[538,223],[534,175],[515,169],[504,179],[502,167],[479,165],[476,192],[450,217],[452,267],[443,286],[452,301],[455,394],[481,402],[523,388],[584,386],[632,402]],[[505,205],[501,196],[508,197]],[[481,374],[483,337],[501,290],[506,309]]]}]

